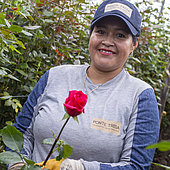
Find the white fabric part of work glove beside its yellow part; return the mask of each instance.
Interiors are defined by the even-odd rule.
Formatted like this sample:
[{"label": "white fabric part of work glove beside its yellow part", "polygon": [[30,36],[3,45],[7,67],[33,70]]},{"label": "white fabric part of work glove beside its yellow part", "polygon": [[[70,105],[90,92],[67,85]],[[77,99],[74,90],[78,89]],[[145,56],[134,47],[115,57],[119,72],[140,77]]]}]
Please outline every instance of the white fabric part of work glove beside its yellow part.
[{"label": "white fabric part of work glove beside its yellow part", "polygon": [[60,165],[60,170],[84,170],[84,166],[80,160],[65,159]]}]

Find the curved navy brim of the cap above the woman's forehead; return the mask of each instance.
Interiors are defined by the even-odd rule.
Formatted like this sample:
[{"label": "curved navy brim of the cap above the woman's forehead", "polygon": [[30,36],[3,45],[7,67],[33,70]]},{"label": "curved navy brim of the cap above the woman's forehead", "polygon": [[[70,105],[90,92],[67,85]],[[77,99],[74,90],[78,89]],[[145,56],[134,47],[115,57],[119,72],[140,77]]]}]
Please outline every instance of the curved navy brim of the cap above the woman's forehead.
[{"label": "curved navy brim of the cap above the woman's forehead", "polygon": [[138,31],[134,28],[134,26],[126,18],[124,18],[124,17],[122,17],[121,15],[118,15],[118,14],[106,14],[106,15],[103,15],[103,16],[97,18],[96,20],[92,21],[91,27],[93,27],[96,22],[98,22],[99,20],[101,20],[102,18],[107,17],[107,16],[117,16],[117,17],[121,18],[126,23],[128,28],[130,29],[132,35],[134,35],[134,36],[138,35]]}]

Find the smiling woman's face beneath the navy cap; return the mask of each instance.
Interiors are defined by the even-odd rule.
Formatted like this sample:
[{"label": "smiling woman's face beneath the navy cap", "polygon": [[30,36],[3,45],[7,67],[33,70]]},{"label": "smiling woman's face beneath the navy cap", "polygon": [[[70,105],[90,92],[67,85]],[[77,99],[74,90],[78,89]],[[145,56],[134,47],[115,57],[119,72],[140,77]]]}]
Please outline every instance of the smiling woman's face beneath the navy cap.
[{"label": "smiling woman's face beneath the navy cap", "polygon": [[89,40],[91,69],[118,74],[136,47],[123,20],[105,17],[95,25]]}]

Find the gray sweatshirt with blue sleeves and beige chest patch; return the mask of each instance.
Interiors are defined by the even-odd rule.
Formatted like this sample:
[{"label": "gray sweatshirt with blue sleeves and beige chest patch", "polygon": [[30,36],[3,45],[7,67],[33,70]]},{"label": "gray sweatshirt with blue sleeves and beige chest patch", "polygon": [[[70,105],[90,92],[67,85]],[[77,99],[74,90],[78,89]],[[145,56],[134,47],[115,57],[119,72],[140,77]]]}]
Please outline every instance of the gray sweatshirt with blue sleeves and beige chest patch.
[{"label": "gray sweatshirt with blue sleeves and beige chest patch", "polygon": [[[64,102],[70,90],[87,93],[97,87],[86,76],[88,66],[57,66],[47,71],[28,96],[15,127],[24,135],[23,153],[44,161],[50,145],[43,139],[58,135],[64,121]],[[85,81],[85,82],[84,82]],[[124,69],[88,95],[85,113],[72,118],[61,139],[73,147],[70,158],[81,160],[86,170],[149,169],[156,143],[159,114],[154,91]],[[51,158],[58,155],[54,152]]]}]

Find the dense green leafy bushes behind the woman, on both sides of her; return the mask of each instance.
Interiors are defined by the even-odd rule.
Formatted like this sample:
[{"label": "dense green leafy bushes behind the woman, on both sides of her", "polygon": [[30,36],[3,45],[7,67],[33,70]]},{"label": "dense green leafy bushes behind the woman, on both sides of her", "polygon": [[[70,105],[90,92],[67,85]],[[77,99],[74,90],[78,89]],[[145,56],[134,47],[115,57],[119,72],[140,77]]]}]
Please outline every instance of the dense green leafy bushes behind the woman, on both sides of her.
[{"label": "dense green leafy bushes behind the woman, on both sides of her", "polygon": [[[143,0],[139,47],[126,69],[155,90],[162,129],[170,127],[169,19]],[[0,2],[0,128],[14,122],[42,74],[61,64],[90,63],[89,26],[95,5],[85,0],[3,0]],[[141,9],[141,8],[140,8]],[[164,131],[162,132],[164,133]],[[3,150],[3,145],[0,146]]]}]

